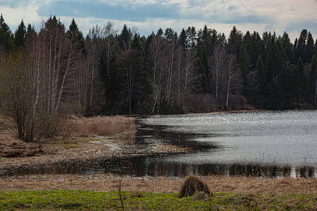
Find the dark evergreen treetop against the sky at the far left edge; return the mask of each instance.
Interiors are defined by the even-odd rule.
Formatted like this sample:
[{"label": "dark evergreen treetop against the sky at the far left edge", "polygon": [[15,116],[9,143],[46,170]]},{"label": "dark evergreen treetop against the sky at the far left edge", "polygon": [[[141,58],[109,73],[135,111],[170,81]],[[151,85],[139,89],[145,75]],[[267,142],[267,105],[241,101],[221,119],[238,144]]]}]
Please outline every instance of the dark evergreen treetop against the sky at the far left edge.
[{"label": "dark evergreen treetop against the sky at the far left edge", "polygon": [[10,28],[4,22],[4,17],[0,16],[0,48],[1,46],[4,48],[5,51],[11,51],[14,45],[14,37],[11,33]]}]

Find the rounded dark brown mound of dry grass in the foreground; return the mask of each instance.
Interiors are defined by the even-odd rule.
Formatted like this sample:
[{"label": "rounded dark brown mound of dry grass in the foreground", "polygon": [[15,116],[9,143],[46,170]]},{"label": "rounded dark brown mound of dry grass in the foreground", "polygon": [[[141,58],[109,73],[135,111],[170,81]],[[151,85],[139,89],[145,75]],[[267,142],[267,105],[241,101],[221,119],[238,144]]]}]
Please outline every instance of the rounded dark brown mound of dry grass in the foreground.
[{"label": "rounded dark brown mound of dry grass in the foreground", "polygon": [[194,193],[200,191],[206,193],[208,196],[213,196],[213,193],[209,191],[209,187],[206,182],[199,179],[199,177],[190,175],[185,178],[185,181],[180,188],[180,193],[178,193],[178,197],[182,198],[192,196]]}]

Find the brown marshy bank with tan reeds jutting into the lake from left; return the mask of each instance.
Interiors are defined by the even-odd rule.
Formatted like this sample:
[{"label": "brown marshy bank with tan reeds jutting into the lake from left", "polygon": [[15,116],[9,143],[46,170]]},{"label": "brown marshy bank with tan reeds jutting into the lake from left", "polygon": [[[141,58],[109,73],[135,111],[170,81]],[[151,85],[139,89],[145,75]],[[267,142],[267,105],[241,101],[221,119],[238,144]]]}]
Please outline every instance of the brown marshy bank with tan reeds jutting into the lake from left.
[{"label": "brown marshy bank with tan reeds jutting into the lake from left", "polygon": [[0,176],[12,175],[19,169],[45,168],[59,163],[190,151],[189,148],[171,146],[163,141],[151,139],[146,146],[135,144],[137,126],[134,117],[73,116],[70,123],[72,134],[66,139],[56,138],[42,143],[24,143],[12,139],[12,134],[2,132],[1,137],[7,139],[0,139],[0,148],[3,146]]}]

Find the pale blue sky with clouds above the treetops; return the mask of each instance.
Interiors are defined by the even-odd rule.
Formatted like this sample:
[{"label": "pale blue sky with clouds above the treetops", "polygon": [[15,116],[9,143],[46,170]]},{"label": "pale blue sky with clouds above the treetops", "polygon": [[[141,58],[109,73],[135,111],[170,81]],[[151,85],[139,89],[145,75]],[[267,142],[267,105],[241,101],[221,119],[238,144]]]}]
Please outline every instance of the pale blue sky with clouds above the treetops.
[{"label": "pale blue sky with clouds above the treetops", "polygon": [[207,25],[228,36],[235,25],[243,33],[275,31],[290,34],[292,41],[305,28],[317,38],[317,0],[0,0],[0,13],[14,32],[21,19],[39,27],[56,15],[68,27],[72,18],[84,34],[94,25],[113,21],[148,35],[160,27],[176,32]]}]

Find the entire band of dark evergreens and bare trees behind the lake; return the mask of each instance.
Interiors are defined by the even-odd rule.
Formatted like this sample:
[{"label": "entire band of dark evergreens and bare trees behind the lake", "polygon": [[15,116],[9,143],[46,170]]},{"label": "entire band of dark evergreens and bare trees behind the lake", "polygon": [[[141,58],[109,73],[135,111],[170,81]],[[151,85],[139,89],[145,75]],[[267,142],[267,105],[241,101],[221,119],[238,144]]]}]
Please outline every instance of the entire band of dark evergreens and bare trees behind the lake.
[{"label": "entire band of dark evergreens and bare trees behind the lake", "polygon": [[316,108],[316,55],[306,29],[292,43],[287,32],[235,26],[228,38],[206,25],[146,37],[108,22],[84,37],[74,19],[66,28],[53,16],[39,30],[22,20],[13,33],[1,15],[0,108],[26,140],[35,122],[61,113]]}]

